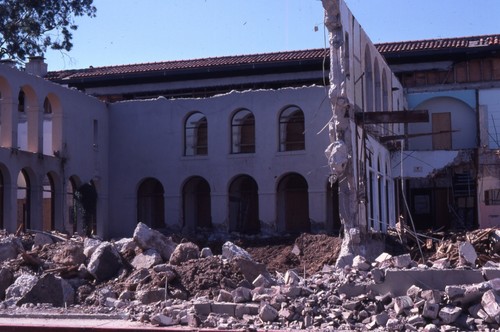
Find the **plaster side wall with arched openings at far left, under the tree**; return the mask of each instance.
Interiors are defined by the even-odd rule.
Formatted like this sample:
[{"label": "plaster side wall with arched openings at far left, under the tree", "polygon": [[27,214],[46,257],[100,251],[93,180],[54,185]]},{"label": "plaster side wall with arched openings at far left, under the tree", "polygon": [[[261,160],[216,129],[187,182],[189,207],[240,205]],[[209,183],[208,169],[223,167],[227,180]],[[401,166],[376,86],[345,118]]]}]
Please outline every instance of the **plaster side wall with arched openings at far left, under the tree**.
[{"label": "plaster side wall with arched openings at far left, under the tree", "polygon": [[[31,147],[19,148],[17,144],[17,105],[19,90],[28,91],[28,116],[38,119],[37,137]],[[65,191],[70,176],[80,182],[93,180],[99,195],[97,218],[98,233],[107,233],[105,220],[108,218],[108,115],[106,105],[81,92],[64,88],[37,76],[27,74],[6,65],[0,65],[0,93],[2,126],[0,137],[2,148],[0,163],[6,183],[4,221],[8,230],[15,230],[17,176],[22,169],[28,172],[32,188],[32,227],[41,229],[42,181],[47,173],[54,179],[55,226],[57,229],[68,227],[65,220]],[[49,97],[53,106],[54,123],[58,123],[57,141],[53,141],[57,151],[43,149],[43,103]],[[94,132],[94,123],[100,131]],[[64,162],[62,162],[64,160]],[[37,204],[38,203],[38,204]],[[40,205],[40,206],[38,206]],[[37,208],[38,206],[38,208]]]}]

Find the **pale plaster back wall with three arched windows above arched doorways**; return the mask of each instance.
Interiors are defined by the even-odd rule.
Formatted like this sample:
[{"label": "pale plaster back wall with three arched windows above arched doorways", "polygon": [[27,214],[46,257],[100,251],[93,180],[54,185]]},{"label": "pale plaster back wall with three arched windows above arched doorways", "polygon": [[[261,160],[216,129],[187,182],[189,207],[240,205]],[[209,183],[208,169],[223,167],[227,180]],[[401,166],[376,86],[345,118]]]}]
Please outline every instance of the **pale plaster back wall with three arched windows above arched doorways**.
[{"label": "pale plaster back wall with three arched windows above arched doorways", "polygon": [[[182,225],[182,188],[192,176],[208,181],[212,222],[224,228],[228,219],[228,189],[238,175],[251,176],[258,185],[261,223],[276,223],[276,189],[291,172],[308,184],[309,214],[313,222],[326,218],[325,188],[328,168],[322,131],[331,117],[324,87],[231,92],[212,98],[129,101],[109,105],[110,200],[114,236],[130,236],[137,223],[136,197],[140,182],[153,177],[165,189],[165,220]],[[304,112],[305,150],[279,152],[279,114],[289,105]],[[246,108],[255,116],[255,153],[231,154],[231,118]],[[193,111],[208,122],[208,154],[184,156],[184,123]]]}]

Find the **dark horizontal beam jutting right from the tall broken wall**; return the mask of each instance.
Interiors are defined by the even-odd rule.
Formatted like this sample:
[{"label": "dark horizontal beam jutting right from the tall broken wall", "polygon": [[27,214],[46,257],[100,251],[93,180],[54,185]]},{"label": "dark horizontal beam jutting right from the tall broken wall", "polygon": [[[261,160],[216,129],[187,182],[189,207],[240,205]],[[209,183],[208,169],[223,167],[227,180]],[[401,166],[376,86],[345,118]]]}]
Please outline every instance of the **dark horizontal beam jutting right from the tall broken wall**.
[{"label": "dark horizontal beam jutting right from the tall broken wall", "polygon": [[357,124],[429,122],[429,111],[357,112],[354,118]]}]

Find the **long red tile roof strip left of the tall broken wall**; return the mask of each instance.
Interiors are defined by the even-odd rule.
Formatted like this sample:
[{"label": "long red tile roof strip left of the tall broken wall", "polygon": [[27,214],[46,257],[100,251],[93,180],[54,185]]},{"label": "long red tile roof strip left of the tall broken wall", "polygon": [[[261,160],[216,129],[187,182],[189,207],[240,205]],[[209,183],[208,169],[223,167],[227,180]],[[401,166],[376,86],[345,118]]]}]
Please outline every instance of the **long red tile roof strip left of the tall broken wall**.
[{"label": "long red tile roof strip left of the tall broken wall", "polygon": [[46,78],[51,80],[85,79],[92,77],[120,76],[134,73],[154,73],[183,69],[203,69],[224,66],[278,63],[283,61],[319,60],[329,55],[328,49],[285,51],[274,53],[223,56],[214,58],[138,63],[109,67],[90,67],[79,70],[50,72]]}]

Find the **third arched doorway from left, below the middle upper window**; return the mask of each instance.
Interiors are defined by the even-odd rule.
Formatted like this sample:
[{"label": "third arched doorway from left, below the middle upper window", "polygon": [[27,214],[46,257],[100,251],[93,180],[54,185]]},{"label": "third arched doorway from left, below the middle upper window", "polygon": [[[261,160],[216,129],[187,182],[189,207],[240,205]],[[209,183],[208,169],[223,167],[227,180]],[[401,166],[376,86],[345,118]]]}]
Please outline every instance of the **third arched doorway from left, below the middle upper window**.
[{"label": "third arched doorway from left, below the middle upper window", "polygon": [[258,187],[248,175],[237,177],[229,186],[229,230],[260,232]]}]

